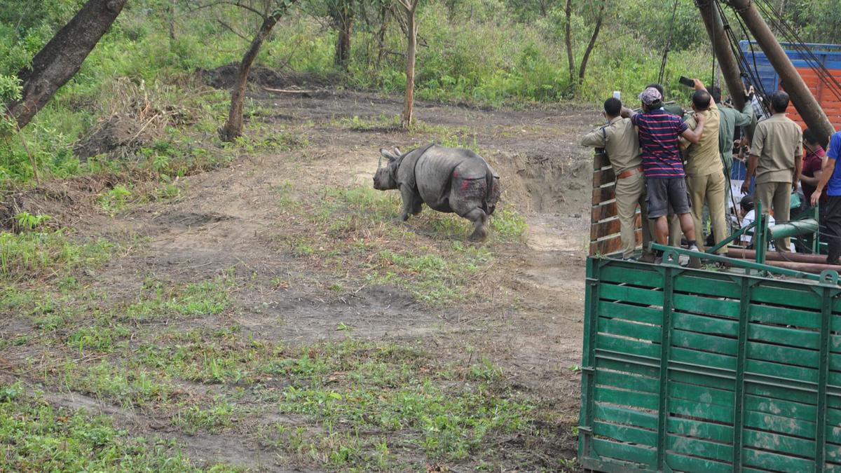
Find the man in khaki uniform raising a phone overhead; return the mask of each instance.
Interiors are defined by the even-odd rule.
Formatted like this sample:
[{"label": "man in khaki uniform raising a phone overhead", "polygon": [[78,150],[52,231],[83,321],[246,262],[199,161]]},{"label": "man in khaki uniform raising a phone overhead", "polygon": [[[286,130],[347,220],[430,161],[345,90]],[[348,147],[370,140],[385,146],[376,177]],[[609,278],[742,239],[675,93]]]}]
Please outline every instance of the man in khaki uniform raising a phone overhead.
[{"label": "man in khaki uniform raising a phone overhead", "polygon": [[[701,220],[704,215],[704,204],[710,208],[710,220],[712,221],[712,233],[716,242],[721,242],[729,236],[727,231],[727,207],[724,203],[725,189],[727,187],[724,178],[724,167],[719,152],[719,123],[721,114],[716,101],[704,88],[704,84],[695,79],[696,92],[692,95],[692,109],[696,114],[703,114],[706,118],[706,126],[701,140],[697,143],[690,143],[681,139],[681,147],[686,147],[687,157],[684,166],[686,171],[686,187],[689,189],[690,201],[692,202],[692,219],[695,221],[696,231],[701,231]],[[686,125],[695,128],[696,119],[690,117]],[[703,238],[698,235],[698,247],[704,251]],[[722,248],[719,254],[727,253],[727,248]]]}]

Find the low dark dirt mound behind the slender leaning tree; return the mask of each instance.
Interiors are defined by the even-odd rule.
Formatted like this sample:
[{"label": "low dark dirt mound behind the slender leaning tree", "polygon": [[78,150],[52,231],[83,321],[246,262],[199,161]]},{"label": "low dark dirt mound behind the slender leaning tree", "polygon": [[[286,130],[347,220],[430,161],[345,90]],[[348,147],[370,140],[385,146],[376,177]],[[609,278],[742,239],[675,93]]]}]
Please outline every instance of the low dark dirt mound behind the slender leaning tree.
[{"label": "low dark dirt mound behind the slender leaning tree", "polygon": [[[232,88],[239,70],[239,63],[232,62],[212,70],[201,69],[198,76],[214,88]],[[270,88],[333,88],[340,81],[338,76],[316,76],[303,72],[278,72],[266,66],[251,66],[248,82]]]}]

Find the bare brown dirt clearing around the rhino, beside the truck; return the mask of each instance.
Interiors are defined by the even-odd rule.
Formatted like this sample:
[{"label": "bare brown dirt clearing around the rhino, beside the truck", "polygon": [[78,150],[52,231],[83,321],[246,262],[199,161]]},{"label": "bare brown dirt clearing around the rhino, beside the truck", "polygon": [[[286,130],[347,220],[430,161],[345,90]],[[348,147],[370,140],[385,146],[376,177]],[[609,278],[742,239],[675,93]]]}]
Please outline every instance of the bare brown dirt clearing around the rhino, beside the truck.
[{"label": "bare brown dirt clearing around the rhino, beside the truck", "polygon": [[[557,443],[526,450],[551,457],[546,460],[551,468],[558,459],[574,457],[570,426],[578,415],[579,374],[572,368],[580,363],[590,208],[590,154],[576,141],[595,114],[418,104],[417,119],[424,126],[406,135],[389,125],[402,106],[395,98],[349,92],[309,98],[260,92],[254,98],[260,107],[249,133],[255,142],[269,140],[273,147],[255,145],[230,167],[186,178],[178,199],[78,224],[83,236],[135,235],[142,241],[139,251],[101,268],[92,290],[132,300],[150,278],[186,283],[234,268],[242,281],[233,293],[234,310],[189,321],[184,331],[197,323],[209,329],[236,324],[263,341],[294,347],[341,340],[347,333],[341,327],[352,327],[353,337],[366,340],[420,342],[445,361],[469,364],[473,357],[487,357],[503,369],[505,383],[540,404],[547,428],[556,431]],[[288,146],[300,139],[304,144]],[[526,215],[529,226],[525,242],[495,247],[494,263],[481,275],[487,294],[464,303],[427,305],[410,290],[368,281],[359,267],[319,258],[331,248],[320,247],[324,240],[308,233],[300,211],[304,206],[318,212],[333,189],[370,186],[379,147],[406,151],[429,141],[478,147],[502,176],[503,199]],[[454,244],[427,230],[424,219],[430,218],[379,225],[405,226],[421,245]],[[339,238],[341,231],[336,230]],[[377,229],[355,231],[383,241]],[[385,243],[400,245],[394,238]],[[310,252],[315,255],[307,256]],[[210,395],[201,389],[202,396]],[[69,406],[79,402],[61,393],[52,400]],[[114,407],[99,410],[115,415]],[[148,432],[155,431],[153,424],[137,422],[133,413],[122,418],[133,432],[156,433]],[[226,436],[170,435],[194,458],[275,469],[271,460],[259,460],[263,448],[246,426]],[[225,449],[231,442],[242,446]]]}]

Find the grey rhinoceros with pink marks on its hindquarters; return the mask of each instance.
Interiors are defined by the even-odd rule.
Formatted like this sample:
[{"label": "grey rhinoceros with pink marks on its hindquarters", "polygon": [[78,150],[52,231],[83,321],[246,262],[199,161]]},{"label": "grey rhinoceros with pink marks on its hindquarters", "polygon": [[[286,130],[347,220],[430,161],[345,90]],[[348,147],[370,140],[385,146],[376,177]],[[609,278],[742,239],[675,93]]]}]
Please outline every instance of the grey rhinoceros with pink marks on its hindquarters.
[{"label": "grey rhinoceros with pink marks on its hindquarters", "polygon": [[[405,154],[380,149],[373,188],[399,189],[403,199],[403,221],[421,213],[426,204],[439,212],[455,212],[475,225],[470,239],[488,237],[488,216],[500,199],[500,177],[482,157],[464,148],[447,148],[434,143]],[[383,157],[389,163],[383,167]]]}]

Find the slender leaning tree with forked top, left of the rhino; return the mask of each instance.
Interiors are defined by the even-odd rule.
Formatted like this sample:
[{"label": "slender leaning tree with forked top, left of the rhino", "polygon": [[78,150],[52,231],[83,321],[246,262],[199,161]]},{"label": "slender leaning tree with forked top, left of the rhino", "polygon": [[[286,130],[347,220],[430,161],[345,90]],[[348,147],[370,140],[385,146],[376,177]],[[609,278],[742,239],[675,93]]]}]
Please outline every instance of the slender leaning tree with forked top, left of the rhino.
[{"label": "slender leaning tree with forked top, left of the rhino", "polygon": [[[252,5],[242,3],[237,0],[235,4],[238,7],[245,8],[251,13],[257,13],[262,17],[262,24],[254,39],[251,40],[251,45],[248,46],[246,54],[242,56],[240,68],[236,72],[234,81],[234,88],[230,92],[230,110],[228,112],[228,120],[219,131],[220,138],[223,141],[234,141],[239,136],[242,136],[242,109],[246,99],[246,86],[248,85],[248,72],[251,71],[251,64],[257,59],[257,54],[260,52],[263,41],[268,35],[272,33],[272,29],[278,21],[283,18],[288,9],[296,0],[262,0],[262,8],[254,8]],[[259,5],[258,5],[259,7]]]}]

